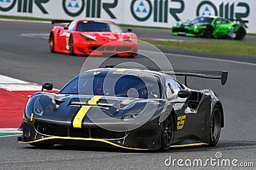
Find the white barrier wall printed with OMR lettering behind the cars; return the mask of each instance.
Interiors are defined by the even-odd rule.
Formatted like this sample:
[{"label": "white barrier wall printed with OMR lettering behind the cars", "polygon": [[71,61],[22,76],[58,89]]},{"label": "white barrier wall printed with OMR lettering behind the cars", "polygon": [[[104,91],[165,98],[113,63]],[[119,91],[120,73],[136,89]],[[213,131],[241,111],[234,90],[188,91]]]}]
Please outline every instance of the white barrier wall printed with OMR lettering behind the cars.
[{"label": "white barrier wall printed with OMR lettering behind the cars", "polygon": [[255,0],[0,0],[0,15],[72,20],[107,18],[119,24],[172,27],[178,20],[218,15],[248,20],[256,33]]}]

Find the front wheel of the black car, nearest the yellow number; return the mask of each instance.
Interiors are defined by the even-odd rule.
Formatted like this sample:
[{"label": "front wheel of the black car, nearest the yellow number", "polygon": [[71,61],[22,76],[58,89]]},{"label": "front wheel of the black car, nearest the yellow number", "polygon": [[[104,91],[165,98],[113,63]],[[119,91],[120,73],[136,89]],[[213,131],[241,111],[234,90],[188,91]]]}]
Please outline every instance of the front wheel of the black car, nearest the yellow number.
[{"label": "front wheel of the black car, nearest the yellow number", "polygon": [[172,145],[173,138],[173,118],[169,115],[163,122],[161,133],[161,151],[168,150]]}]

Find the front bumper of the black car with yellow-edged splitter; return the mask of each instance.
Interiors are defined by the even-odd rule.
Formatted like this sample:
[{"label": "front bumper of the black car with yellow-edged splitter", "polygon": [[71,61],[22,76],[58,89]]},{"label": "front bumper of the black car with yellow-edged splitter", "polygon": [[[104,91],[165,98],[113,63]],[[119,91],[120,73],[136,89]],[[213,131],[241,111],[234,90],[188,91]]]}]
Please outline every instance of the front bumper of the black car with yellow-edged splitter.
[{"label": "front bumper of the black car with yellow-edged splitter", "polygon": [[138,129],[113,132],[100,127],[74,128],[24,120],[22,136],[18,137],[18,142],[31,145],[82,145],[157,150],[161,146],[161,126],[158,118],[155,118]]}]

